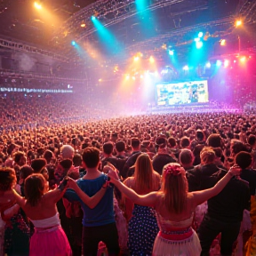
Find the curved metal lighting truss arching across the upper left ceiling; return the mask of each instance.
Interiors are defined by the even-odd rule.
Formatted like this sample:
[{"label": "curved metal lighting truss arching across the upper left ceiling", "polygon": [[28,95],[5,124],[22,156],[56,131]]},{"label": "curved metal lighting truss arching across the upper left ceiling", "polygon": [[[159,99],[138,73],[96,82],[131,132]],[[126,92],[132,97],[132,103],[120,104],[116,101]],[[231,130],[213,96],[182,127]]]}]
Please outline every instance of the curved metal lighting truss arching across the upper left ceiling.
[{"label": "curved metal lighting truss arching across the upper left ceiling", "polygon": [[[205,0],[151,0],[148,7],[140,12],[146,10],[154,11],[158,8],[163,8],[172,4],[183,3],[188,6],[188,8],[194,8],[195,4],[197,7],[206,6],[207,1]],[[191,5],[191,6],[190,6]],[[95,15],[96,13],[96,15]],[[94,4],[90,4],[84,9],[76,12],[71,18],[69,18],[62,26],[59,31],[56,31],[56,37],[60,40],[68,37],[68,34],[72,35],[76,42],[79,42],[86,36],[90,36],[96,31],[92,24],[92,15],[96,16],[97,19],[105,26],[109,27],[122,20],[130,18],[139,12],[136,10],[136,4],[134,0],[102,0],[96,1]],[[86,28],[81,29],[81,22],[86,23]],[[63,43],[63,42],[62,42]]]}]

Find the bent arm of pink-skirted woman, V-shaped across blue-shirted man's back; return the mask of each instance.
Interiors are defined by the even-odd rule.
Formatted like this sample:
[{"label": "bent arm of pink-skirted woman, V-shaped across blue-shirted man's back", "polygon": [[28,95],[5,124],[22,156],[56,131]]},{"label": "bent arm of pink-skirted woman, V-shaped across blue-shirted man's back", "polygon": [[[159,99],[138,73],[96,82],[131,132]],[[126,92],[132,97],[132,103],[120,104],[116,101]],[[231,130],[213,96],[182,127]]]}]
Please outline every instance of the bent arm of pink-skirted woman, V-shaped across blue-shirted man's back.
[{"label": "bent arm of pink-skirted woman, V-shaped across blue-shirted man's back", "polygon": [[107,186],[104,184],[102,188],[92,197],[87,196],[84,191],[78,187],[75,180],[69,179],[68,180],[68,188],[72,188],[75,190],[77,196],[80,197],[80,199],[84,202],[84,204],[87,204],[88,207],[91,209],[94,208],[97,204],[99,204],[102,196],[104,196],[106,190],[108,189]]}]

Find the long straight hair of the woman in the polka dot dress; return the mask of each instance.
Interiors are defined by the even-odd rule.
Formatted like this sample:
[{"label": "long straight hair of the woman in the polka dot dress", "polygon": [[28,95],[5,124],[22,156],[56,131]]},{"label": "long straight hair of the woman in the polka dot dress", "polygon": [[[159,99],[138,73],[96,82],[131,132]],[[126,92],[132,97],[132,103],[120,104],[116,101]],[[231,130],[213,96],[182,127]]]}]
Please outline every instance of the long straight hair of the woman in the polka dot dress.
[{"label": "long straight hair of the woman in the polka dot dress", "polygon": [[147,192],[154,189],[153,166],[148,154],[141,154],[135,163],[134,190]]}]

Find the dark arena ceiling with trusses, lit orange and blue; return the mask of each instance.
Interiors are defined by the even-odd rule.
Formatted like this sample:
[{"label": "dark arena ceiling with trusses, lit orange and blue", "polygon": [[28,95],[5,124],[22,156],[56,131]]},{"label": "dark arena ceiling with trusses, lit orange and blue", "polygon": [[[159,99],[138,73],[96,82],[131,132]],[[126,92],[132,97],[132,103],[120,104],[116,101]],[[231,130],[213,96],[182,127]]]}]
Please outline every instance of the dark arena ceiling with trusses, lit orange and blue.
[{"label": "dark arena ceiling with trusses, lit orange and blue", "polygon": [[[42,13],[36,12],[33,3],[30,0],[0,1],[1,37],[34,44],[68,58],[85,58],[88,63],[90,56],[87,54],[81,58],[71,45],[72,41],[79,45],[93,45],[93,49],[106,59],[115,59],[116,62],[140,49],[148,55],[154,52],[161,59],[161,49],[170,45],[180,47],[180,54],[186,54],[196,31],[202,30],[208,35],[206,40],[215,38],[216,41],[233,33],[237,18],[242,17],[253,31],[256,27],[254,0],[148,0],[143,12],[136,8],[134,0],[40,1],[52,17],[56,17],[52,20],[45,20]],[[152,15],[147,17],[148,12]],[[109,56],[104,50],[92,24],[92,15],[115,35],[124,49],[122,53]]]}]

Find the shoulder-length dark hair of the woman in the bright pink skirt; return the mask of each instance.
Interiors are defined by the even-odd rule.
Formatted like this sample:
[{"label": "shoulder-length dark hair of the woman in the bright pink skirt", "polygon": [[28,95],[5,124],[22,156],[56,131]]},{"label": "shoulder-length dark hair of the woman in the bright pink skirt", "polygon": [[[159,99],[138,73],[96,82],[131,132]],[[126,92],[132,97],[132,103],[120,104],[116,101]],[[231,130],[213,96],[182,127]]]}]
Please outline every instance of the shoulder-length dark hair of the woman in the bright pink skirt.
[{"label": "shoulder-length dark hair of the woman in the bright pink skirt", "polygon": [[39,173],[31,174],[25,180],[25,197],[31,206],[36,206],[44,195],[44,182],[44,176]]}]

